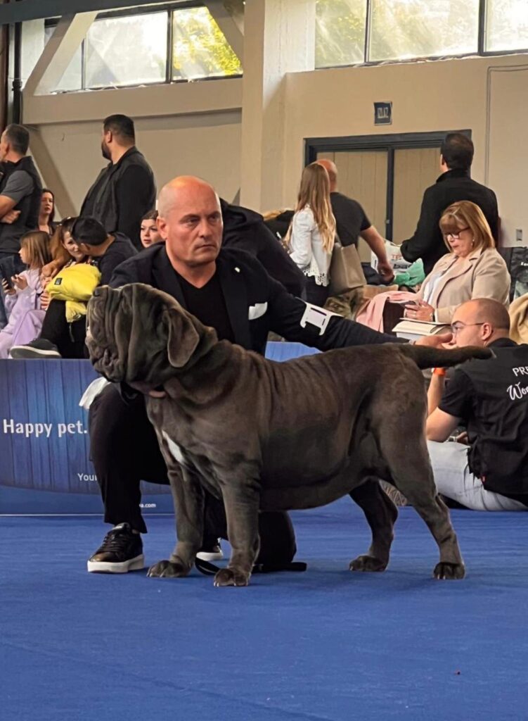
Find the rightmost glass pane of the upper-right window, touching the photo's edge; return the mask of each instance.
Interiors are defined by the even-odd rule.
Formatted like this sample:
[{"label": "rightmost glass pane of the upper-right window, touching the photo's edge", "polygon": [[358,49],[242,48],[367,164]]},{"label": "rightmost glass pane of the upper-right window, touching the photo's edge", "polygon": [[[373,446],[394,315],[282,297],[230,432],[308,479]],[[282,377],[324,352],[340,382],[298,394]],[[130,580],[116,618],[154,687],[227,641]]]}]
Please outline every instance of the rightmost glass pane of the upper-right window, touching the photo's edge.
[{"label": "rightmost glass pane of the upper-right window, touching the photo's edge", "polygon": [[528,0],[488,0],[486,50],[528,48]]}]

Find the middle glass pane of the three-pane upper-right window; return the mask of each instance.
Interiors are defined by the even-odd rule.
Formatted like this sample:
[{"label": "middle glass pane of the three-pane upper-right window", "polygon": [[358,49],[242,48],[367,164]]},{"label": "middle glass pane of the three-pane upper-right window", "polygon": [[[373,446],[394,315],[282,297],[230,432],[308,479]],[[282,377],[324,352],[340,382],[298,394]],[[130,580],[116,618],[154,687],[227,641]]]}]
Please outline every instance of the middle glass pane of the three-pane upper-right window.
[{"label": "middle glass pane of the three-pane upper-right window", "polygon": [[477,50],[478,0],[372,0],[371,61]]}]

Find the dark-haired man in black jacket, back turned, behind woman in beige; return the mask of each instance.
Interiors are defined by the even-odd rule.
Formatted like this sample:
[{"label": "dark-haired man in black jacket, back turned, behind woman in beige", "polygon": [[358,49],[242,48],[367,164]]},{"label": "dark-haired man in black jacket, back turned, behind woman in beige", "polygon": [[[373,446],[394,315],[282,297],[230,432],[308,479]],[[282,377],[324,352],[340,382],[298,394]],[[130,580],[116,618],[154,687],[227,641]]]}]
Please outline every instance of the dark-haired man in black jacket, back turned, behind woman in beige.
[{"label": "dark-haired man in black jacket, back turned, behind woman in beige", "polygon": [[426,274],[447,252],[439,221],[447,206],[458,200],[471,200],[478,205],[486,216],[495,242],[498,241],[497,198],[493,190],[471,180],[473,151],[473,142],[462,133],[449,133],[445,137],[440,149],[442,175],[424,193],[414,235],[401,244],[406,260],[413,262],[421,258],[424,261]]}]

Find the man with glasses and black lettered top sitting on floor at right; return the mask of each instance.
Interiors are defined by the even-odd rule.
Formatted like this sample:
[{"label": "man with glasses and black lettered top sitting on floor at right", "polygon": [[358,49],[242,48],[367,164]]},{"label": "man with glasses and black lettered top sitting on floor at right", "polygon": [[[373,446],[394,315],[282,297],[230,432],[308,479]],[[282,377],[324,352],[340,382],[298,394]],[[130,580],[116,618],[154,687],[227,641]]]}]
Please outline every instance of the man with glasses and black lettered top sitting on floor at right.
[{"label": "man with glasses and black lettered top sitting on floor at right", "polygon": [[[447,384],[436,368],[426,434],[439,493],[473,510],[527,510],[528,345],[509,338],[506,308],[489,298],[462,304],[452,319],[455,345],[493,349]],[[448,441],[467,429],[469,446]],[[465,434],[463,434],[465,435]]]}]

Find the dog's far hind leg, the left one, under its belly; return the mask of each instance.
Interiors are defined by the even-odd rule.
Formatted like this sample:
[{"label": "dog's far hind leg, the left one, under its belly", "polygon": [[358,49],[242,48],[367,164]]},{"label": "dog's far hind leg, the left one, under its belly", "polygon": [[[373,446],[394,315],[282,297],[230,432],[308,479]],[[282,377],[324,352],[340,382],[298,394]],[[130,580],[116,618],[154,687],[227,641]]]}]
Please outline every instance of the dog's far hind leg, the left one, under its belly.
[{"label": "dog's far hind leg, the left one, under its belly", "polygon": [[389,562],[390,544],[398,510],[380,487],[377,479],[369,479],[350,492],[350,497],[362,509],[372,531],[372,543],[367,553],[350,562],[351,571],[384,571]]}]

